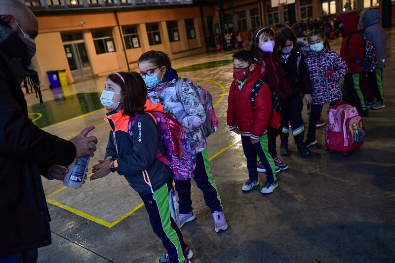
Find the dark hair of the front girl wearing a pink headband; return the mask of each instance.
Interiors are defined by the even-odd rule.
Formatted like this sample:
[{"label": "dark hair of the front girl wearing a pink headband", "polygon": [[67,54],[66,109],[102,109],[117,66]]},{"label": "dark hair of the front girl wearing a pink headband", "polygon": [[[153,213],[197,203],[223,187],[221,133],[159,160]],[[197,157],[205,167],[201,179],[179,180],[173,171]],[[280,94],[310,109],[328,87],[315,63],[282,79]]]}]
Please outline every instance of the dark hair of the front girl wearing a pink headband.
[{"label": "dark hair of the front girl wearing a pink headband", "polygon": [[136,113],[143,113],[147,100],[147,89],[143,77],[137,72],[118,72],[125,82],[115,73],[107,78],[118,84],[124,92],[122,110],[125,115],[133,116]]}]

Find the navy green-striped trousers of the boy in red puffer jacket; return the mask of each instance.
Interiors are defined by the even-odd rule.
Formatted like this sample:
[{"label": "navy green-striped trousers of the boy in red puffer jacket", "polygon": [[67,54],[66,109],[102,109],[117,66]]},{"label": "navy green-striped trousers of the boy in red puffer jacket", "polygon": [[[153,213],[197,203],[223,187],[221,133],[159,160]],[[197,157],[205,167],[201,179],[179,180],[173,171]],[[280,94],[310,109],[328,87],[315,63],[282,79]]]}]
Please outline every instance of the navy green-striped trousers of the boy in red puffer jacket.
[{"label": "navy green-striped trousers of the boy in red puffer jacket", "polygon": [[247,136],[241,136],[241,143],[243,145],[244,155],[247,158],[247,169],[250,180],[258,180],[257,171],[257,158],[262,162],[262,165],[266,169],[266,181],[273,183],[277,181],[275,161],[268,149],[268,134],[259,137],[259,143],[252,144],[251,138]]}]

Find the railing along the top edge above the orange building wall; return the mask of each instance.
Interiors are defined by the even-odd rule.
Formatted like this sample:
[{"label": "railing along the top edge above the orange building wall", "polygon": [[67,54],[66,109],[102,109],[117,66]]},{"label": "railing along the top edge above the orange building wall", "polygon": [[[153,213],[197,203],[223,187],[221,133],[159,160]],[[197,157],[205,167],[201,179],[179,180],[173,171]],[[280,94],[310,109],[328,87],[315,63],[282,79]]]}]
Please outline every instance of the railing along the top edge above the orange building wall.
[{"label": "railing along the top edge above the orange building wall", "polygon": [[191,4],[193,0],[22,0],[32,9],[125,7],[139,5]]}]

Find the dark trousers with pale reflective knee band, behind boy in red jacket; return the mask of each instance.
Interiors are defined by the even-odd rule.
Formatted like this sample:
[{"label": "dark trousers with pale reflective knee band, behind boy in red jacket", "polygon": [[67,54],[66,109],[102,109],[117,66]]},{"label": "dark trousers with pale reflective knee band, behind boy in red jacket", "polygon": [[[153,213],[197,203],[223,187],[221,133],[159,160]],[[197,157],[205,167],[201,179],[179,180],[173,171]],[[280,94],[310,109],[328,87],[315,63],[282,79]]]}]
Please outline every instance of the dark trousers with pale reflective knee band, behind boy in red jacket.
[{"label": "dark trousers with pale reflective knee band, behind boy in red jacket", "polygon": [[305,137],[305,125],[303,123],[301,112],[300,96],[292,96],[288,98],[282,105],[280,139],[282,145],[288,145],[289,122],[291,122],[292,135],[297,145],[303,144]]}]

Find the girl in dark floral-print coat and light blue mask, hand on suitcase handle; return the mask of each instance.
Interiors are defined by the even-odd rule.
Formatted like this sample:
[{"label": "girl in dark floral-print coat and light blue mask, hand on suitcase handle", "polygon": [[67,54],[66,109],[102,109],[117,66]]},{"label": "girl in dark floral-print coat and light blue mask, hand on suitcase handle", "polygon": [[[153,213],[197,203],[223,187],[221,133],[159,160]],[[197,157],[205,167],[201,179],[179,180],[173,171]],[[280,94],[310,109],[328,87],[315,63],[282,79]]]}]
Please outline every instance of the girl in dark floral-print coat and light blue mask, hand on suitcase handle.
[{"label": "girl in dark floral-print coat and light blue mask, hand on suitcase handle", "polygon": [[[316,122],[322,111],[323,105],[329,102],[335,105],[342,99],[340,78],[347,73],[347,64],[340,55],[330,50],[322,31],[313,30],[309,34],[311,52],[306,58],[310,78],[313,84],[313,102],[309,115],[309,130],[305,141],[306,147],[317,143]],[[329,98],[326,90],[326,81]]]}]

